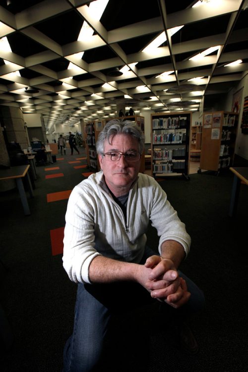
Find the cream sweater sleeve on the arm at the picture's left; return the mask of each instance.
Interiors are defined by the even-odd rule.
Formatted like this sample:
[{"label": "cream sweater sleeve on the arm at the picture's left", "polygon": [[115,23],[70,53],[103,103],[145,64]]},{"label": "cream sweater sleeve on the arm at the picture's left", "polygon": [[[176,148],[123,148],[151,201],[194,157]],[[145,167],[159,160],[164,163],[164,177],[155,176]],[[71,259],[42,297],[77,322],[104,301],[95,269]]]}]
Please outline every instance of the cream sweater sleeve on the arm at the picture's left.
[{"label": "cream sweater sleeve on the arm at the picture's left", "polygon": [[68,200],[63,238],[63,267],[71,281],[90,283],[90,263],[100,255],[94,247],[92,208],[87,194],[76,186]]}]

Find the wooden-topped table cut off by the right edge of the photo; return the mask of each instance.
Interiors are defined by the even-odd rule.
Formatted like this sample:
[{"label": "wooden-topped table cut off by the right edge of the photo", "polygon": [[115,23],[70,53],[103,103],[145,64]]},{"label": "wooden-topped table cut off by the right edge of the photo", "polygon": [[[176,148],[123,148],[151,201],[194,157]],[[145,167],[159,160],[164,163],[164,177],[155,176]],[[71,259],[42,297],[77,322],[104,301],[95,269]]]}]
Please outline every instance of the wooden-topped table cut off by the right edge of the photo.
[{"label": "wooden-topped table cut off by the right edge of the photo", "polygon": [[237,205],[240,193],[241,182],[248,185],[248,168],[231,167],[230,170],[234,173],[233,188],[231,195],[231,202],[228,215],[233,217],[237,212]]}]

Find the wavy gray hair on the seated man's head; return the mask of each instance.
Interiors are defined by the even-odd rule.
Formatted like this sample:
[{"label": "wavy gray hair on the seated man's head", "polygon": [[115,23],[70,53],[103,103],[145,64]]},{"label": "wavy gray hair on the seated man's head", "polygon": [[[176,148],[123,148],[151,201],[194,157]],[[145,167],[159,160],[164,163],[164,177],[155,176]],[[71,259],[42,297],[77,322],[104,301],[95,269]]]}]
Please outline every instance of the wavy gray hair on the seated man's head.
[{"label": "wavy gray hair on the seated man's head", "polygon": [[142,154],[145,146],[145,136],[140,127],[131,120],[118,120],[114,119],[109,121],[103,130],[99,133],[98,140],[96,143],[96,151],[98,154],[104,154],[104,143],[107,140],[110,142],[112,136],[117,134],[130,135],[138,141],[139,152]]}]

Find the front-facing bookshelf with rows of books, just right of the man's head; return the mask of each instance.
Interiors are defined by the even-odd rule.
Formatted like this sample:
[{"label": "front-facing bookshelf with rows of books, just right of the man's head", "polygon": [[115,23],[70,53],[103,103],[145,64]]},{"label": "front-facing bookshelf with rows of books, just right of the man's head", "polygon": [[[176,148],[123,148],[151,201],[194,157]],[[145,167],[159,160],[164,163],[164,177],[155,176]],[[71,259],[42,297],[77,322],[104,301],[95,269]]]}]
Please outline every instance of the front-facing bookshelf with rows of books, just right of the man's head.
[{"label": "front-facing bookshelf with rows of books, just right of the man's head", "polygon": [[183,174],[189,167],[191,112],[151,114],[151,170],[153,177]]}]

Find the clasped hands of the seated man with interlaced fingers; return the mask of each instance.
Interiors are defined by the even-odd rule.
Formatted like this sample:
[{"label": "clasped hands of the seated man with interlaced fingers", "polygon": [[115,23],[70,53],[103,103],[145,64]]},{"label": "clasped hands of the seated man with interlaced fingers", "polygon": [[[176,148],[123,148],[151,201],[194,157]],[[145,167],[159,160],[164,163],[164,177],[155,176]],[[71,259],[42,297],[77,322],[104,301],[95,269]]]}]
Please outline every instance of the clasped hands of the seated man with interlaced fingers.
[{"label": "clasped hands of the seated man with interlaced fingers", "polygon": [[145,265],[141,265],[137,280],[151,293],[151,297],[176,309],[190,297],[186,281],[179,276],[173,261],[160,256],[151,256]]}]

